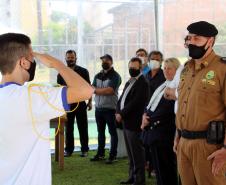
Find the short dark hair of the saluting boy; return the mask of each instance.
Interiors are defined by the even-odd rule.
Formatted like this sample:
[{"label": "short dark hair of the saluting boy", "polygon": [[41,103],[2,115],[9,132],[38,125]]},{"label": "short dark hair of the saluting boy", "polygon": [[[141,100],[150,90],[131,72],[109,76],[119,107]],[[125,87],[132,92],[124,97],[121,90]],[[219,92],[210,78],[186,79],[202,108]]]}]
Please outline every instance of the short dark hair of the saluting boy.
[{"label": "short dark hair of the saluting boy", "polygon": [[0,35],[0,71],[3,75],[13,72],[16,61],[29,54],[31,39],[21,33]]}]

